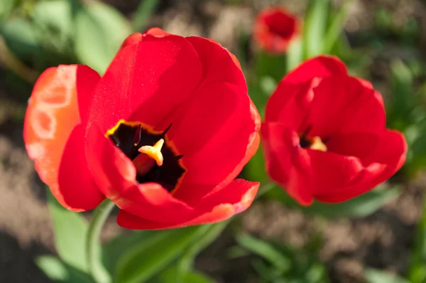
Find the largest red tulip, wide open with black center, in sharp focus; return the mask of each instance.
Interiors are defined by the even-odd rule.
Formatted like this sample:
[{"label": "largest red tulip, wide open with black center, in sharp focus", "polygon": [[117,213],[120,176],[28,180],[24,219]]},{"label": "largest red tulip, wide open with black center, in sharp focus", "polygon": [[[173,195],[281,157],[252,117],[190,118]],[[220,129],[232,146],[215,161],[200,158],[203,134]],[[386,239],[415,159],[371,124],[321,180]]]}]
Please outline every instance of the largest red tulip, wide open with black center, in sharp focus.
[{"label": "largest red tulip, wide open with black center, in sharp focus", "polygon": [[218,43],[153,28],[126,39],[102,78],[84,65],[45,70],[26,113],[26,148],[69,210],[107,197],[125,228],[225,220],[258,190],[234,180],[259,141],[246,92],[238,61]]}]

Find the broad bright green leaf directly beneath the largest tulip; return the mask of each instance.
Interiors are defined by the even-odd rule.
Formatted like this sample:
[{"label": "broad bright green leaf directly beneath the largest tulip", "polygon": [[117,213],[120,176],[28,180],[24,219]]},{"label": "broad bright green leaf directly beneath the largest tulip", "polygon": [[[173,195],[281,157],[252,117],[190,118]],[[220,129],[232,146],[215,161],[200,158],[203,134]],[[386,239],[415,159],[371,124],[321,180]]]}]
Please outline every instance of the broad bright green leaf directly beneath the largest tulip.
[{"label": "broad bright green leaf directly beneath the largest tulip", "polygon": [[153,277],[207,228],[207,225],[201,225],[165,230],[141,242],[121,256],[116,268],[116,282],[138,283]]}]

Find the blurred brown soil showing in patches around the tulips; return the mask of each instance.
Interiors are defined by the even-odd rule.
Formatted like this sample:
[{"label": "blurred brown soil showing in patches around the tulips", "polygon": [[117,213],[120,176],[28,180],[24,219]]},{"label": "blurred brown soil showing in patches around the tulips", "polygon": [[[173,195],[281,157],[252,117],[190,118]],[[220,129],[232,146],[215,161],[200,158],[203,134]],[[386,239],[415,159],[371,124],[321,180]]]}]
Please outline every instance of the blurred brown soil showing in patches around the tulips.
[{"label": "blurred brown soil showing in patches around the tulips", "polygon": [[[131,17],[138,1],[108,0]],[[124,4],[126,2],[126,4]],[[231,2],[231,1],[228,1]],[[150,26],[160,26],[183,36],[213,38],[235,50],[241,29],[250,33],[253,17],[263,6],[280,1],[161,1]],[[281,1],[290,11],[302,13],[306,1]],[[336,1],[339,2],[339,1]],[[426,9],[418,0],[353,1],[346,21],[346,31],[356,33],[372,28],[379,7],[391,11],[403,24],[410,17],[426,24]],[[426,42],[426,33],[421,43]],[[382,66],[383,67],[383,66]],[[388,66],[383,67],[386,73]],[[4,70],[0,66],[0,74]],[[386,77],[386,75],[383,75]],[[378,81],[380,83],[380,81]],[[29,92],[26,92],[29,95]],[[46,205],[45,186],[33,169],[23,146],[22,121],[16,119],[25,110],[24,98],[16,97],[6,79],[0,79],[0,282],[50,282],[33,263],[38,255],[55,254],[53,230]],[[362,282],[365,267],[404,274],[413,247],[415,225],[422,210],[425,177],[405,185],[403,193],[373,215],[362,219],[337,218],[324,224],[321,260],[326,262],[332,282]],[[300,211],[284,208],[275,201],[258,201],[241,214],[241,227],[253,235],[274,239],[294,247],[303,247],[318,230],[315,219]],[[109,219],[104,238],[120,228]],[[231,233],[224,233],[197,258],[198,269],[217,282],[256,282],[251,259],[229,260],[224,255],[234,245]]]}]

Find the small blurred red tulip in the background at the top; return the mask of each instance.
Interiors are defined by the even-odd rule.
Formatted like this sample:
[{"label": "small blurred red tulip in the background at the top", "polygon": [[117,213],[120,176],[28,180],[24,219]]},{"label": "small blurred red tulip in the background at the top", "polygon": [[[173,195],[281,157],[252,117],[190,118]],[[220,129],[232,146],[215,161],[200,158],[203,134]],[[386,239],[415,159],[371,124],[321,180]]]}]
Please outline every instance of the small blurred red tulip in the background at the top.
[{"label": "small blurred red tulip in the background at the top", "polygon": [[258,46],[270,53],[285,53],[288,43],[299,33],[297,21],[283,8],[264,9],[254,23],[254,39]]}]

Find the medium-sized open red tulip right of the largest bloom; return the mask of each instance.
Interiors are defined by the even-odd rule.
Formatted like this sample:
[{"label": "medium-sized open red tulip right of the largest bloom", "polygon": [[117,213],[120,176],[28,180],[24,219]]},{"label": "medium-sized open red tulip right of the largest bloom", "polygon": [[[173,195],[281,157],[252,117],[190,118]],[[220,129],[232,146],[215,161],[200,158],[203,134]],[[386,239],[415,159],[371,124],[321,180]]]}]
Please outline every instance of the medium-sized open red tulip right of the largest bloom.
[{"label": "medium-sized open red tulip right of the largest bloom", "polygon": [[302,205],[371,190],[403,166],[407,151],[403,134],[386,129],[381,94],[326,56],[281,80],[261,134],[269,175]]}]

